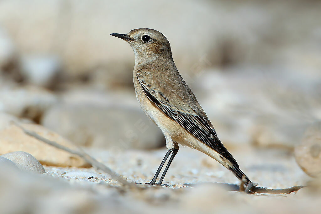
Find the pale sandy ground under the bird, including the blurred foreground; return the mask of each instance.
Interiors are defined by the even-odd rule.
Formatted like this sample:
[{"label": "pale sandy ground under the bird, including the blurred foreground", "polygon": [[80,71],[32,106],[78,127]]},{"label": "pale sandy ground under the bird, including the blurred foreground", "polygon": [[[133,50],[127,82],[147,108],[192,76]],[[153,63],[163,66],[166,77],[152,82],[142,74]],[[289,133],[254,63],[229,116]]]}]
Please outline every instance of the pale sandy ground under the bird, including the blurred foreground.
[{"label": "pale sandy ground under the bird, including the blurred foreground", "polygon": [[[4,134],[2,138],[8,138]],[[18,136],[17,141],[28,142]],[[217,183],[239,184],[238,179],[210,157],[189,148],[180,148],[169,168],[165,183],[170,187],[155,187],[144,183],[152,179],[166,148],[86,148],[98,161],[145,188],[124,187],[93,167],[45,165],[46,173],[35,174],[1,165],[0,213],[319,213],[320,181],[310,184],[313,179],[299,168],[291,150],[244,144],[228,149],[261,187],[309,187],[290,194],[228,192]]]}]

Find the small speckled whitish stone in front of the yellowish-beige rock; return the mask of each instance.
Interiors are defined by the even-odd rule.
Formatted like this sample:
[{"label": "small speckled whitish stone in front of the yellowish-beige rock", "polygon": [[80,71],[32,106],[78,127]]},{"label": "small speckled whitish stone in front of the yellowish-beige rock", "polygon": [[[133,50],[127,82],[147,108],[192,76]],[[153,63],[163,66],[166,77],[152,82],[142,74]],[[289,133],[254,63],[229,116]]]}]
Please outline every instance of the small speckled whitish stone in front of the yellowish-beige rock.
[{"label": "small speckled whitish stone in front of the yellowish-beige rock", "polygon": [[9,159],[17,165],[19,169],[39,174],[46,173],[40,162],[27,152],[10,152],[1,157]]}]

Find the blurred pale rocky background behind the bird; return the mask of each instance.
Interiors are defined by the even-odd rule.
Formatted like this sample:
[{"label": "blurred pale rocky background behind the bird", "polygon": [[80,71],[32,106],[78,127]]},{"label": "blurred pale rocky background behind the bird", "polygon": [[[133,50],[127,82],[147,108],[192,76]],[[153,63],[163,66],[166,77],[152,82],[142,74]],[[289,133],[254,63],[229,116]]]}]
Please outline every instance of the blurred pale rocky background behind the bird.
[{"label": "blurred pale rocky background behind the bird", "polygon": [[[320,8],[317,0],[0,0],[1,117],[89,150],[160,148],[151,177],[165,140],[136,100],[132,49],[109,36],[147,27],[167,37],[181,76],[237,160],[252,164],[249,147],[278,151],[262,164],[293,159],[321,120]],[[308,142],[320,152],[321,126],[312,127]],[[311,166],[309,151],[296,156],[301,167]]]}]

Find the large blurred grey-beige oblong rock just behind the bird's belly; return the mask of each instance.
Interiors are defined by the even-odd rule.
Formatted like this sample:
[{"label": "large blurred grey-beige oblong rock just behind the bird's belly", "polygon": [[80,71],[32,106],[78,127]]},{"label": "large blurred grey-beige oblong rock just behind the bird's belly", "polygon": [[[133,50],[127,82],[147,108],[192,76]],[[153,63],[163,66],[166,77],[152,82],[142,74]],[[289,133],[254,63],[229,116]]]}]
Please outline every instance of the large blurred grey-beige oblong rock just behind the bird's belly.
[{"label": "large blurred grey-beige oblong rock just behind the bird's belly", "polygon": [[61,105],[47,111],[41,123],[87,147],[152,149],[165,145],[159,128],[136,108]]}]

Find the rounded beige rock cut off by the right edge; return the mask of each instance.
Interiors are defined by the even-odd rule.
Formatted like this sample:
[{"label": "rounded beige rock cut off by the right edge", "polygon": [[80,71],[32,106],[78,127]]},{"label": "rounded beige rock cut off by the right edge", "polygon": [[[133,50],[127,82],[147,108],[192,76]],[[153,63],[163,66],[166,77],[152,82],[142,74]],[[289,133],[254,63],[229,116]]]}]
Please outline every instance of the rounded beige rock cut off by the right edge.
[{"label": "rounded beige rock cut off by the right edge", "polygon": [[310,126],[301,143],[295,147],[295,160],[312,177],[321,176],[321,122]]}]

